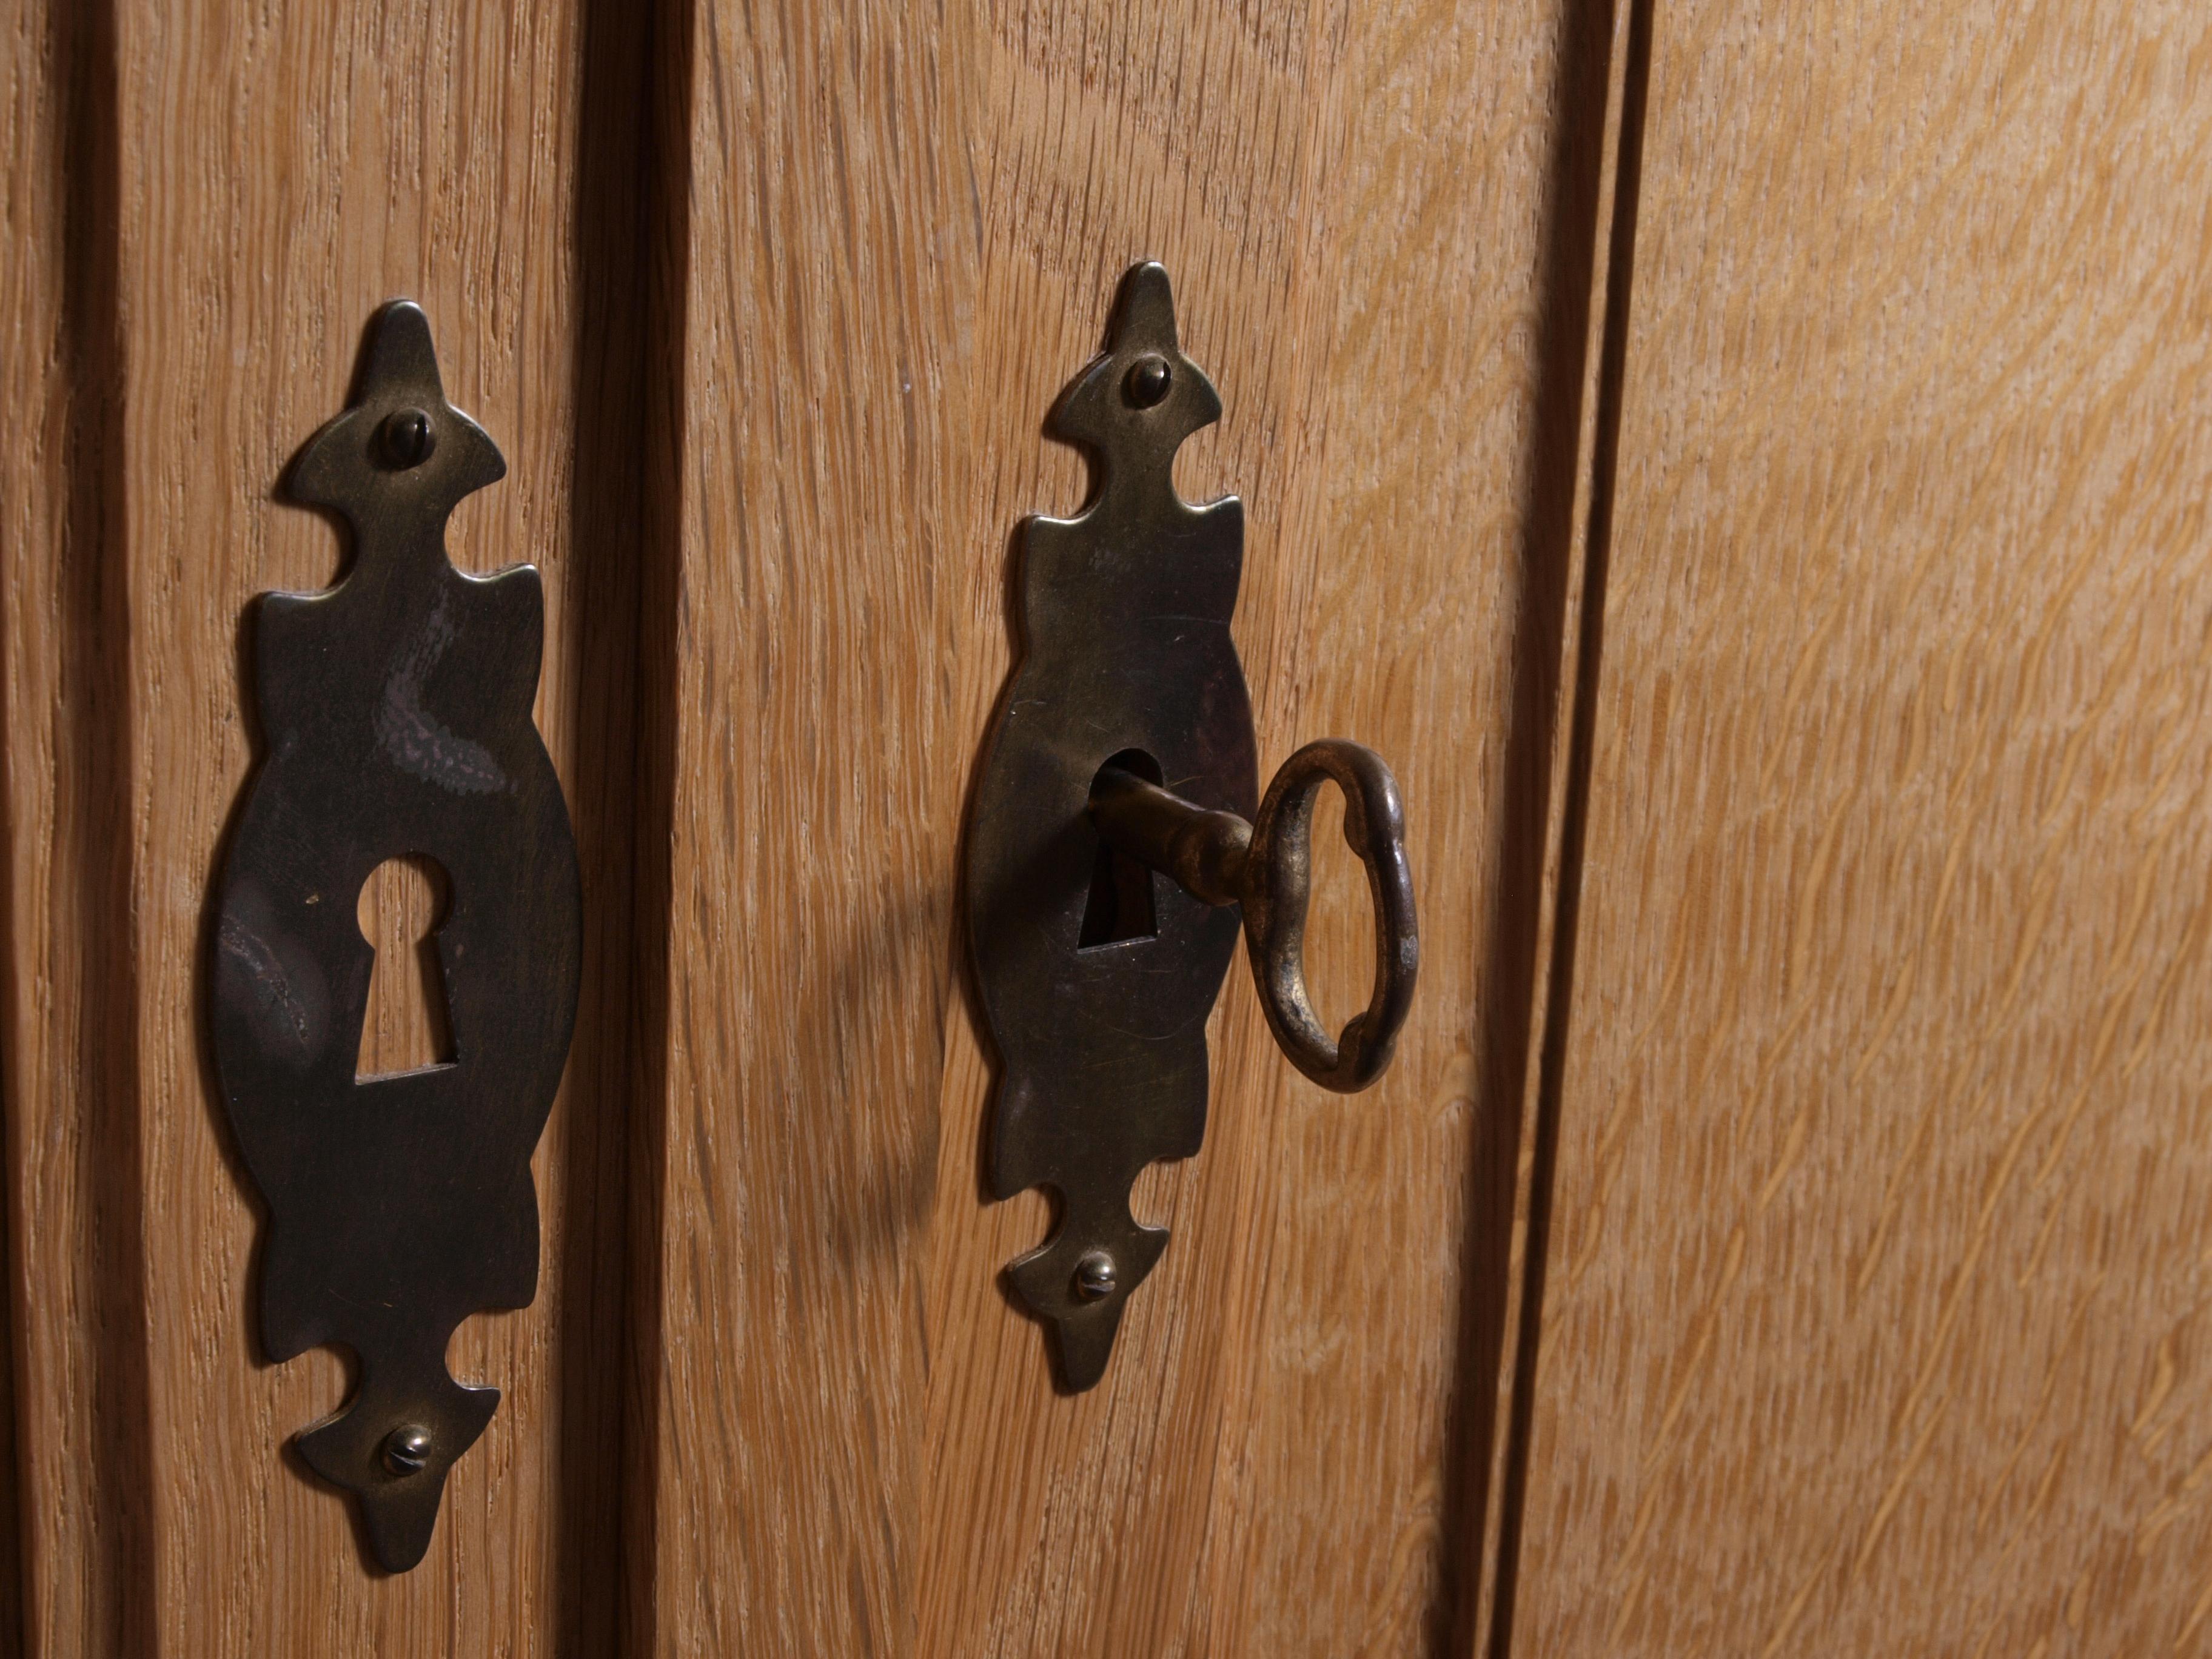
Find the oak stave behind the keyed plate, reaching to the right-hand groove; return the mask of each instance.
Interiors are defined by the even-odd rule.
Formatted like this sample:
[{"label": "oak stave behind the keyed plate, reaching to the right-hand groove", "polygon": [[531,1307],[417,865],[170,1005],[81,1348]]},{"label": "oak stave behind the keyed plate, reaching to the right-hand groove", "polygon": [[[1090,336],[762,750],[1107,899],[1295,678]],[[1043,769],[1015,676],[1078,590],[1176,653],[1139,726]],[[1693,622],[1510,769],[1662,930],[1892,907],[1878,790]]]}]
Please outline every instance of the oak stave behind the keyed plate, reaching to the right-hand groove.
[{"label": "oak stave behind the keyed plate, reaching to the right-hand groove", "polygon": [[[1590,9],[991,7],[975,146],[984,272],[971,546],[1066,511],[1040,442],[1113,279],[1159,257],[1223,422],[1183,493],[1245,500],[1237,641],[1263,779],[1345,734],[1396,768],[1422,907],[1418,1011],[1340,1099],[1274,1051],[1245,967],[1214,1020],[1206,1150],[1137,1212],[1172,1228],[1104,1385],[1051,1394],[993,1283],[1046,1206],[975,1201],[987,1068],[951,1033],[922,1650],[1422,1652],[1455,1639],[1482,1542],[1484,1321],[1513,1199],[1542,880],[1590,206],[1559,124],[1601,126]],[[1604,31],[1597,31],[1604,46]],[[1568,215],[1579,234],[1559,237]],[[1553,310],[1555,307],[1555,310]],[[1564,396],[1562,396],[1564,394]],[[1562,480],[1568,480],[1562,489]],[[978,580],[980,577],[980,580]],[[1009,657],[1004,560],[971,575],[962,701]],[[1334,807],[1325,812],[1334,814]],[[1323,1000],[1365,991],[1365,891],[1334,836]],[[1480,1281],[1480,1283],[1478,1283]],[[1471,1307],[1473,1303],[1473,1307]]]}]

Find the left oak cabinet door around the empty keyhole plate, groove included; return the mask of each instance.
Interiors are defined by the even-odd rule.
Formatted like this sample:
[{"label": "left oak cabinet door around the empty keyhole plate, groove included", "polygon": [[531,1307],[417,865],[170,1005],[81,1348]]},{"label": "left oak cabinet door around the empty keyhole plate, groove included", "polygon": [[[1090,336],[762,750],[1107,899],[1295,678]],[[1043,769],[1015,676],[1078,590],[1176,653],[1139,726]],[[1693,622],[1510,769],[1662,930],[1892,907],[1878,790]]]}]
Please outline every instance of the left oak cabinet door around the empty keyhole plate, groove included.
[{"label": "left oak cabinet door around the empty keyhole plate, groove included", "polygon": [[[580,1358],[571,1314],[608,1281],[597,1115],[628,1066],[630,637],[586,639],[584,619],[630,615],[635,577],[571,491],[571,411],[591,387],[580,7],[86,4],[33,9],[11,33],[11,91],[62,106],[44,157],[11,148],[11,190],[29,177],[33,212],[71,204],[55,243],[51,219],[24,234],[11,195],[11,254],[38,259],[11,259],[7,307],[9,407],[38,407],[15,400],[18,376],[44,374],[49,436],[60,427],[7,458],[29,1646],[551,1652],[613,1610],[611,1586],[602,1606],[577,1590],[577,1557],[611,1511],[617,1420],[580,1427],[568,1407],[577,1391],[613,1405],[619,1378],[613,1345]],[[276,484],[345,403],[361,330],[392,294],[425,303],[447,392],[511,467],[456,513],[456,562],[546,573],[538,719],[591,914],[584,1035],[535,1161],[540,1296],[456,1336],[456,1374],[504,1398],[403,1577],[367,1566],[343,1498],[283,1451],[338,1402],[345,1365],[261,1363],[257,1221],[201,1026],[206,894],[257,741],[241,617],[259,591],[341,568],[334,529]],[[387,894],[380,982],[389,958],[411,967]],[[378,1024],[372,1064],[414,1042],[405,1020]]]}]

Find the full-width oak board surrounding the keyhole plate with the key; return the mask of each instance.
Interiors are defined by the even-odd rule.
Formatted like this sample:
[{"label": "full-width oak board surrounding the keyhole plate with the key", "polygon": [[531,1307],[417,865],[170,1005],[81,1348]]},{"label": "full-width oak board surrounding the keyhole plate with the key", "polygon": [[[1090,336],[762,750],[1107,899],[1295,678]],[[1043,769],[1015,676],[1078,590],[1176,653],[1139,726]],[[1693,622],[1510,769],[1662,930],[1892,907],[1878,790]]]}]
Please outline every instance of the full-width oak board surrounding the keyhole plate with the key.
[{"label": "full-width oak board surrounding the keyhole plate with the key", "polygon": [[[1546,215],[1604,58],[1562,102],[1562,15],[697,7],[639,1646],[1449,1639],[1486,1504],[1458,1425],[1495,1385],[1462,1312],[1509,1276],[1469,1199],[1513,1199],[1537,949],[1502,845],[1533,891],[1582,427]],[[1062,1398],[998,1285],[1048,1206],[980,1197],[953,872],[1013,526],[1084,487],[1044,411],[1139,257],[1228,405],[1181,487],[1248,502],[1265,763],[1325,732],[1391,759],[1427,949],[1356,1102],[1276,1057],[1232,971],[1206,1152],[1139,1183],[1177,1239]],[[1325,843],[1343,1013],[1365,896]]]}]

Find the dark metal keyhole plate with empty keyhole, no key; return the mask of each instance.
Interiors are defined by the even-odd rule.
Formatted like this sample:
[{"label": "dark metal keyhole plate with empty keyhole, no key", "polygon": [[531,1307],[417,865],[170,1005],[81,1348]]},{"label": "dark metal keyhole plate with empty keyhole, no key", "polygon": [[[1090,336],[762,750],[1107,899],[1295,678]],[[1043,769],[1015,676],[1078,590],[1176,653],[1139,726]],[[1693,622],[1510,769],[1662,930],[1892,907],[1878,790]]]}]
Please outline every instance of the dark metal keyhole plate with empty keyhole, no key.
[{"label": "dark metal keyhole plate with empty keyhole, no key", "polygon": [[[445,1369],[460,1321],[538,1292],[531,1150],[575,1029],[582,878],[531,701],[544,593],[529,564],[453,568],[453,507],[507,476],[445,400],[429,323],[369,327],[356,403],[288,493],[352,524],[325,593],[265,593],[252,690],[268,754],[221,872],[215,1066],[268,1203],[261,1338],[361,1358],[354,1396],[299,1436],[361,1502],[369,1553],[422,1559],[447,1471],[498,1407]],[[356,1077],[374,949],[356,898],[387,858],[445,867],[436,931],[453,1060]]]}]

